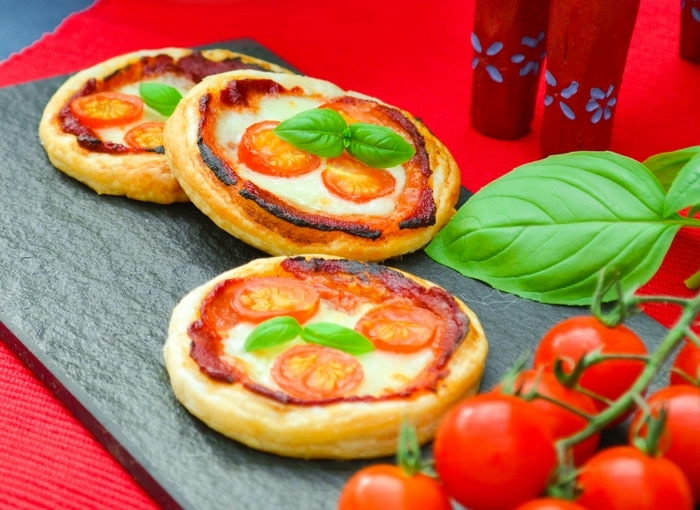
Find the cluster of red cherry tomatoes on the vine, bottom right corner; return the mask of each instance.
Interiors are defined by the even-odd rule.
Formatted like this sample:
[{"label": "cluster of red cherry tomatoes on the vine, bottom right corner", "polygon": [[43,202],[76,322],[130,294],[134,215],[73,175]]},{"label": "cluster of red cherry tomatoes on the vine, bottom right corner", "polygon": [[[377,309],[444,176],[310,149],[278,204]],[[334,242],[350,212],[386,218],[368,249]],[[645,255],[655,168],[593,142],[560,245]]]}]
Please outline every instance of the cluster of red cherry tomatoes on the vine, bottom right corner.
[{"label": "cluster of red cherry tomatoes on the vine, bottom right corner", "polygon": [[[434,474],[400,462],[369,466],[347,482],[338,510],[449,510],[453,502],[470,510],[692,510],[700,503],[700,347],[684,342],[669,384],[642,396],[631,391],[647,367],[639,337],[593,316],[566,319],[543,336],[532,369],[443,418]],[[580,362],[591,355],[599,359]],[[621,408],[632,393],[634,404]],[[620,409],[614,420],[596,419],[610,407]],[[623,422],[628,443],[601,448],[602,429]],[[574,434],[581,440],[562,449]]]}]

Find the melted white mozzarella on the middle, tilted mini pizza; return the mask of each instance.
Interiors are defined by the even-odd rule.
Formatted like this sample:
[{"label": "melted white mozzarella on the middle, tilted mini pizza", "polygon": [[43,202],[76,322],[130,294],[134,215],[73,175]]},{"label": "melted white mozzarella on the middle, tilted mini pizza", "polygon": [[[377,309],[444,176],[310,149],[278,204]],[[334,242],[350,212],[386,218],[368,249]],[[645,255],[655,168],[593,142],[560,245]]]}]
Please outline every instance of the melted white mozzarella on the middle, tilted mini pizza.
[{"label": "melted white mozzarella on the middle, tilted mini pizza", "polygon": [[[215,137],[220,147],[226,151],[231,161],[238,162],[238,145],[248,126],[264,120],[286,120],[299,112],[317,108],[325,100],[313,97],[269,96],[260,101],[255,112],[232,114],[224,112],[217,118]],[[320,212],[336,216],[362,214],[384,217],[392,213],[398,197],[403,192],[406,172],[402,165],[387,168],[396,179],[394,191],[386,196],[368,202],[356,203],[332,194],[323,184],[321,174],[326,159],[321,159],[319,167],[297,177],[275,177],[254,172],[239,162],[237,171],[241,178],[273,193],[293,206],[308,212]]]}]

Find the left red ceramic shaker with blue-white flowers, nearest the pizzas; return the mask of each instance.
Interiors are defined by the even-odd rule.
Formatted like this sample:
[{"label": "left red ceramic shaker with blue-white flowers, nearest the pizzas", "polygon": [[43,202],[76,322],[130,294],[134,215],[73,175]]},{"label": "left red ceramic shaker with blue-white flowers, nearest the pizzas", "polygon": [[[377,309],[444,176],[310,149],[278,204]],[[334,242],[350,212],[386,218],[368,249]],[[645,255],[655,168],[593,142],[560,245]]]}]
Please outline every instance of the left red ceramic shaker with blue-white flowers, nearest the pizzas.
[{"label": "left red ceramic shaker with blue-white flowers, nearest the pizzas", "polygon": [[546,51],[550,0],[476,0],[470,117],[501,139],[530,131]]}]

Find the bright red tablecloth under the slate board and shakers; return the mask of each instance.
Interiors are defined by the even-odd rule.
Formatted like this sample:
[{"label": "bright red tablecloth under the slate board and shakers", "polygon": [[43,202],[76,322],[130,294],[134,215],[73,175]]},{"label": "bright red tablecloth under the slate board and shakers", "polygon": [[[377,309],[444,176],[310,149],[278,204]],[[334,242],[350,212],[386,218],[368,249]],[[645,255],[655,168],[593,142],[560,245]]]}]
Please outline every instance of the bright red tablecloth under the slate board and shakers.
[{"label": "bright red tablecloth under the slate board and shakers", "polygon": [[[421,117],[477,191],[538,159],[532,133],[511,142],[469,126],[473,0],[98,0],[0,63],[0,86],[77,71],[143,48],[250,37],[306,74]],[[28,6],[29,8],[29,6]],[[700,65],[678,57],[677,0],[642,0],[617,105],[612,150],[642,160],[700,144]],[[644,293],[690,296],[700,235],[681,231]],[[648,313],[670,325],[676,311]],[[155,503],[0,343],[0,506],[153,508]]]}]

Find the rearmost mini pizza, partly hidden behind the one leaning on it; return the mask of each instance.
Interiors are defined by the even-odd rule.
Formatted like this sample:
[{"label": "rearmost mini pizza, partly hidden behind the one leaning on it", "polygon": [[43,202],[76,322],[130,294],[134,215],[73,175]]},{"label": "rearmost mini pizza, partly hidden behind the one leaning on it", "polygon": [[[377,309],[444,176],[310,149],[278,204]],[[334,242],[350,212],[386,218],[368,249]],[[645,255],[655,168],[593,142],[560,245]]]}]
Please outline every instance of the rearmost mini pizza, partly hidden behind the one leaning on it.
[{"label": "rearmost mini pizza, partly hidden behind the one leaning on it", "polygon": [[121,55],[76,73],[58,88],[44,109],[39,138],[56,168],[99,194],[163,204],[187,201],[163,155],[167,116],[144,105],[139,86],[160,83],[184,94],[205,76],[233,69],[286,71],[225,49]]}]

